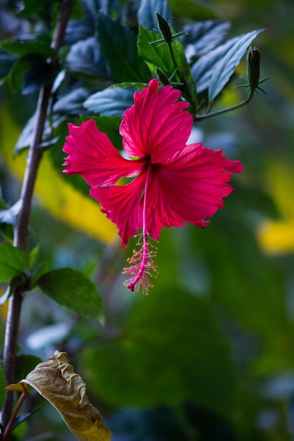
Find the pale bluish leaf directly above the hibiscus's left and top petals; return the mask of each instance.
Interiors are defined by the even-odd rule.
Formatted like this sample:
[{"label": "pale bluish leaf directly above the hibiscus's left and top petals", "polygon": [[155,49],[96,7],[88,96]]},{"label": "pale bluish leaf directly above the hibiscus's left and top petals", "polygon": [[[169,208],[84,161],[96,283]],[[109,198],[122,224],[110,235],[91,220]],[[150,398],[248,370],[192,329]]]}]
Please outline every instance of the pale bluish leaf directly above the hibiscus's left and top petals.
[{"label": "pale bluish leaf directly above the hibiscus's left and top petals", "polygon": [[87,98],[84,106],[102,116],[121,116],[126,108],[133,106],[135,90],[135,87],[109,87]]}]

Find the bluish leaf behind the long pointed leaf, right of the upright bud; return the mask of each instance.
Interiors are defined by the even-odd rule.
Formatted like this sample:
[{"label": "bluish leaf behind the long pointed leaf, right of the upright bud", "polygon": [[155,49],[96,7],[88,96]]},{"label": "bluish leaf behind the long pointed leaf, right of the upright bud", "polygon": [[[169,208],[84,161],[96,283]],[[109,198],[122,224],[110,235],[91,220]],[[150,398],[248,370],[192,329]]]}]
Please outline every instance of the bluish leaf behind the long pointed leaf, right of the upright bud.
[{"label": "bluish leaf behind the long pointed leaf, right of the upright bud", "polygon": [[221,44],[231,24],[228,21],[206,20],[183,27],[188,34],[180,38],[189,61],[212,51]]}]

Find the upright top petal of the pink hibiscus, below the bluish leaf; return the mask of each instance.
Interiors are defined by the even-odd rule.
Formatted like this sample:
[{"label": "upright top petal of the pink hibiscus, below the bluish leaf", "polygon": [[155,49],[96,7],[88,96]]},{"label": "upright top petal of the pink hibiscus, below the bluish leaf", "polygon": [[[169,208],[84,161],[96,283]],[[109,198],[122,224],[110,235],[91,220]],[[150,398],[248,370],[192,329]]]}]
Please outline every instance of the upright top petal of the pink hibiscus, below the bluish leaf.
[{"label": "upright top petal of the pink hibiscus, below the bluish leaf", "polygon": [[178,101],[180,91],[170,85],[159,88],[151,80],[142,92],[135,92],[134,105],[123,114],[120,133],[128,156],[151,156],[152,163],[167,161],[182,149],[190,136],[192,116]]}]

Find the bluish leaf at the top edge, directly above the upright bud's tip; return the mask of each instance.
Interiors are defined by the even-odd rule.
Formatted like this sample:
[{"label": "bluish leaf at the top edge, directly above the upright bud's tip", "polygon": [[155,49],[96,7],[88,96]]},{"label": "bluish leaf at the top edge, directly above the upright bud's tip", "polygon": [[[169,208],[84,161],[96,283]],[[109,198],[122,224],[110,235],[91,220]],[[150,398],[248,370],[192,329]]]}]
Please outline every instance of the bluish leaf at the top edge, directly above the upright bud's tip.
[{"label": "bluish leaf at the top edge, directly above the upright bud's tip", "polygon": [[173,23],[171,8],[166,0],[142,0],[137,11],[137,20],[147,29],[157,29],[157,13],[166,21]]}]

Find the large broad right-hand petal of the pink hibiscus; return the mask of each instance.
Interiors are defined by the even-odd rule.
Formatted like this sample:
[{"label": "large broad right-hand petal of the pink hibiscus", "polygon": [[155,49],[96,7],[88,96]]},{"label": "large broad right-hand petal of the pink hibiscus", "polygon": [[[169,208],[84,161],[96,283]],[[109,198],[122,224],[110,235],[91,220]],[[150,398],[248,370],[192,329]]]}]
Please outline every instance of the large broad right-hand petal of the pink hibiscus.
[{"label": "large broad right-hand petal of the pink hibiscus", "polygon": [[227,183],[231,171],[242,170],[240,161],[226,159],[221,150],[202,144],[186,146],[164,165],[154,167],[147,195],[147,231],[158,240],[163,226],[208,225],[204,218],[223,208],[223,197],[233,190]]}]

